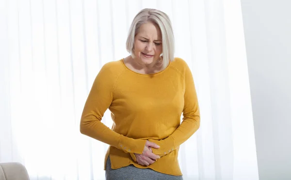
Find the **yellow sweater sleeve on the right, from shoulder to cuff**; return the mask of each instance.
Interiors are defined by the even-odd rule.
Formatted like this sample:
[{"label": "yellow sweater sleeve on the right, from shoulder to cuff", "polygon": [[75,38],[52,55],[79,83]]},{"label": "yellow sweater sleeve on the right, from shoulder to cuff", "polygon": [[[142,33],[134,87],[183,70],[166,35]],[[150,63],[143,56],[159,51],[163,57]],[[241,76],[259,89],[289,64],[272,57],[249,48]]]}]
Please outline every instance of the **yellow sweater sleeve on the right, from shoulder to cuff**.
[{"label": "yellow sweater sleeve on the right, from shoulder to cuff", "polygon": [[160,149],[152,149],[153,153],[162,157],[169,152],[176,150],[178,146],[180,146],[198,130],[199,126],[200,111],[197,94],[192,73],[186,64],[183,121],[167,138],[162,140],[149,139],[150,142],[154,142],[161,147]]}]

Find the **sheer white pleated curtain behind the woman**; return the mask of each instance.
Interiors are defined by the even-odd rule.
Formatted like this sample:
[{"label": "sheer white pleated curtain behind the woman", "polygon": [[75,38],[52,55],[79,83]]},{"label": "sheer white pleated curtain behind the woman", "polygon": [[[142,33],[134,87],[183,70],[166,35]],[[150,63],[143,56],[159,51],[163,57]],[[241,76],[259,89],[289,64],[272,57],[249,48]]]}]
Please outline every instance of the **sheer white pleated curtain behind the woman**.
[{"label": "sheer white pleated curtain behind the woman", "polygon": [[81,112],[143,8],[170,16],[194,75],[201,127],[180,147],[184,180],[259,179],[240,0],[0,0],[0,163],[32,180],[105,179],[108,145],[80,134]]}]

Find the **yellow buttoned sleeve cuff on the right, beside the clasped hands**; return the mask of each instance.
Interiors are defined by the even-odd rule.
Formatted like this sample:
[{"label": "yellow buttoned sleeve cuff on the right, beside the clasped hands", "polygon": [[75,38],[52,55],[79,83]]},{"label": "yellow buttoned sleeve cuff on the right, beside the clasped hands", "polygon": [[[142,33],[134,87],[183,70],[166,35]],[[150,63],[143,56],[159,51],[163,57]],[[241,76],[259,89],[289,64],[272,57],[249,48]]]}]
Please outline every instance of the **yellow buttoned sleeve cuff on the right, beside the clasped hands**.
[{"label": "yellow buttoned sleeve cuff on the right, beside the clasped hands", "polygon": [[159,155],[161,157],[177,149],[177,147],[175,147],[174,144],[174,138],[171,135],[165,139],[161,140],[149,139],[149,141],[156,143],[157,145],[160,146],[159,149],[152,148],[152,150],[154,154]]}]

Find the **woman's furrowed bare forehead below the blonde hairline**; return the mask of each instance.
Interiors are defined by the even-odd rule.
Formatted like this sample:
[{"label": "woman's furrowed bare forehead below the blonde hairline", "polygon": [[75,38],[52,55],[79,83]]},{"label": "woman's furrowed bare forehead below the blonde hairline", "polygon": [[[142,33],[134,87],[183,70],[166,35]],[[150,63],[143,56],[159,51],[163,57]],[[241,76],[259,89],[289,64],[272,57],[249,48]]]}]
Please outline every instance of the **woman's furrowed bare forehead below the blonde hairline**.
[{"label": "woman's furrowed bare forehead below the blonde hairline", "polygon": [[141,25],[137,33],[138,36],[143,36],[145,38],[161,38],[162,33],[158,25],[147,22]]}]

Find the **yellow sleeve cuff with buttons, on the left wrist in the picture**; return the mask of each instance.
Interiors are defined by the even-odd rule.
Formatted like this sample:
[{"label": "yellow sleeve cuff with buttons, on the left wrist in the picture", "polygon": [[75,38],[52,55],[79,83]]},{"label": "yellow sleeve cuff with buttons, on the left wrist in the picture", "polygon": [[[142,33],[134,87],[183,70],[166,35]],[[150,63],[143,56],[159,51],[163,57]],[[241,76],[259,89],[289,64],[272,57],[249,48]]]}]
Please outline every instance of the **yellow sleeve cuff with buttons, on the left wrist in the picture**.
[{"label": "yellow sleeve cuff with buttons, on the left wrist in the picture", "polygon": [[119,143],[118,143],[117,148],[127,153],[142,154],[144,151],[145,145],[146,145],[146,140],[133,139],[133,138],[129,138],[124,135],[121,135],[119,138]]}]

